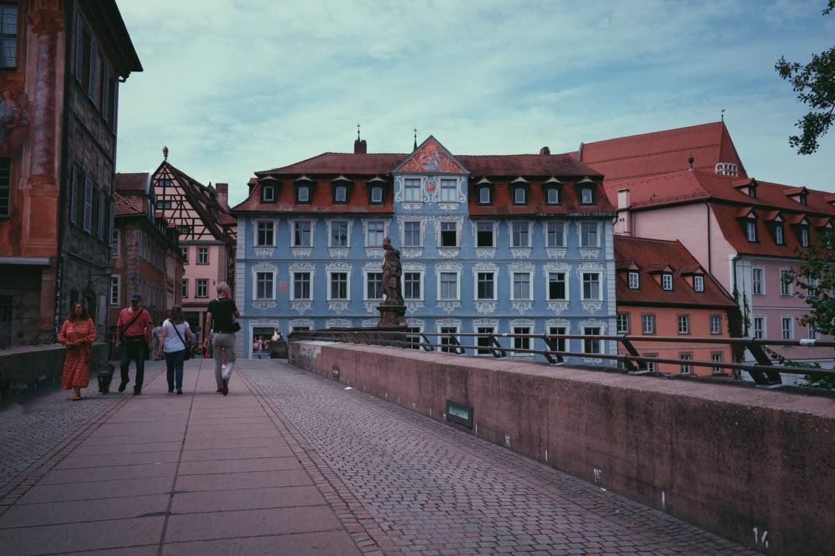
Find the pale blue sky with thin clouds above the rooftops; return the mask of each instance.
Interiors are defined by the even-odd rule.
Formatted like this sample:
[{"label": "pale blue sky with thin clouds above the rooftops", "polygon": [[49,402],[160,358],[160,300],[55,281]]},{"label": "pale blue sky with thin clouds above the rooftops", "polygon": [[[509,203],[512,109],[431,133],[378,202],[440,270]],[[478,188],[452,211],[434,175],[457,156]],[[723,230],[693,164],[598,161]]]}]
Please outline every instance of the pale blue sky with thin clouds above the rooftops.
[{"label": "pale blue sky with thin clouds above the rooftops", "polygon": [[169,161],[244,200],[259,170],[350,153],[551,153],[725,121],[748,175],[835,190],[835,130],[774,71],[835,43],[824,0],[118,0],[144,72],[119,88],[118,172]]}]

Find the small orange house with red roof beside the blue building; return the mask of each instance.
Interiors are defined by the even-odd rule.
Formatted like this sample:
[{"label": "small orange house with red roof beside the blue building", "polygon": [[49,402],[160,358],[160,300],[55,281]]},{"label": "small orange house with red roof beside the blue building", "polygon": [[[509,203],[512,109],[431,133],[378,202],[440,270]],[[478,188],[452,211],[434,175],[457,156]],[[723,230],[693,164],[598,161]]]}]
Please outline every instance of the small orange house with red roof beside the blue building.
[{"label": "small orange house with red roof beside the blue building", "polygon": [[[736,303],[679,241],[615,236],[617,333],[644,336],[641,355],[694,361],[731,361],[724,343],[662,343],[653,336],[729,336]],[[626,353],[620,348],[619,353]],[[660,373],[733,376],[720,367],[650,363]]]}]

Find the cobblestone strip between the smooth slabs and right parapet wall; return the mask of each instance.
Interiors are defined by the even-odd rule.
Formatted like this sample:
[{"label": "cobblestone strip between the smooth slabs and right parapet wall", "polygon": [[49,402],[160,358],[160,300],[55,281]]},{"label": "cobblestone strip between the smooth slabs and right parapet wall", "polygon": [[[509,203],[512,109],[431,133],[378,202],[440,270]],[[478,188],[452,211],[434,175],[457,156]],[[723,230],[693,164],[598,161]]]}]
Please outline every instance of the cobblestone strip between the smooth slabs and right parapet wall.
[{"label": "cobblestone strip between the smooth slabs and right parapet wall", "polygon": [[385,553],[754,554],[286,363],[239,367],[330,485],[355,540]]}]

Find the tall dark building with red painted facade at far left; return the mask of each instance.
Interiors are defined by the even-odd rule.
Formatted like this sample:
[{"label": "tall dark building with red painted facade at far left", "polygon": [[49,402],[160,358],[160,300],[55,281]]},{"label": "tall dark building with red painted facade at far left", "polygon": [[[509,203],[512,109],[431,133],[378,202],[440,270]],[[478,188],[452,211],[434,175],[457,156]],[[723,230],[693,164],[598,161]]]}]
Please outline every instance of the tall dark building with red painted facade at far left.
[{"label": "tall dark building with red painted facade at far left", "polygon": [[114,0],[0,4],[0,343],[82,301],[104,334],[119,83],[142,71]]}]

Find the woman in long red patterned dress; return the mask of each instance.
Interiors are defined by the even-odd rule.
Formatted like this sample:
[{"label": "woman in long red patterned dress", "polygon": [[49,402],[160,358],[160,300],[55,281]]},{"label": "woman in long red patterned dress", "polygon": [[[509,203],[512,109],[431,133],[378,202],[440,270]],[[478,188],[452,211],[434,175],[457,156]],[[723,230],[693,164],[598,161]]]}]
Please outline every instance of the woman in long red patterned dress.
[{"label": "woman in long red patterned dress", "polygon": [[61,388],[73,388],[73,402],[81,399],[81,388],[90,383],[90,355],[96,339],[96,325],[89,318],[82,303],[74,303],[69,318],[58,331],[58,342],[67,346],[67,358],[63,363]]}]

